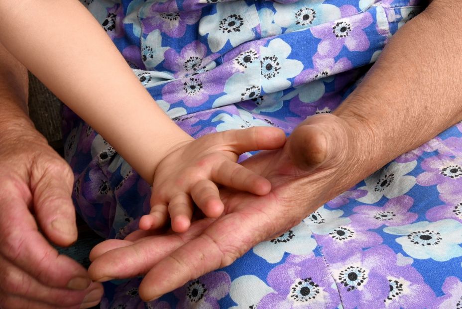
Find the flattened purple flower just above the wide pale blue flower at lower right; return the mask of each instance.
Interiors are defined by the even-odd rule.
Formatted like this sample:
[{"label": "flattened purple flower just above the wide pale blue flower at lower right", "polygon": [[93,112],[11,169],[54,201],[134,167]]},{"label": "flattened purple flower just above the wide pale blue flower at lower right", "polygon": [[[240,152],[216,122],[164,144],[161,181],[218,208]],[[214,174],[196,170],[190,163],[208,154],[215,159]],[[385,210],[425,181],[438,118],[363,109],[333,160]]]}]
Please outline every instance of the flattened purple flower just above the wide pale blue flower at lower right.
[{"label": "flattened purple flower just above the wide pale blue flower at lower right", "polygon": [[414,204],[414,199],[403,195],[394,199],[388,200],[383,207],[377,206],[356,206],[353,211],[356,212],[350,215],[352,222],[364,224],[368,228],[377,228],[382,225],[399,226],[414,222],[419,216],[417,213],[408,212],[409,208]]}]

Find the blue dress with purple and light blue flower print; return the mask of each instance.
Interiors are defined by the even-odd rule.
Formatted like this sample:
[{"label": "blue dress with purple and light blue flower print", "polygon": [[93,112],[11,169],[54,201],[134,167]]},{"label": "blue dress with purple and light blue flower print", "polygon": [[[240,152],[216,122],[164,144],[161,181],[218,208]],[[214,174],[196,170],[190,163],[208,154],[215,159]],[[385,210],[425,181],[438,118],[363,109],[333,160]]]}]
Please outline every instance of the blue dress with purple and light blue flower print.
[{"label": "blue dress with purple and light blue flower print", "polygon": [[[194,137],[290,133],[334,110],[419,0],[83,0],[165,112]],[[149,211],[150,187],[64,108],[74,202],[106,238]],[[140,278],[102,308],[462,308],[462,124],[406,153],[232,265],[143,303]]]}]

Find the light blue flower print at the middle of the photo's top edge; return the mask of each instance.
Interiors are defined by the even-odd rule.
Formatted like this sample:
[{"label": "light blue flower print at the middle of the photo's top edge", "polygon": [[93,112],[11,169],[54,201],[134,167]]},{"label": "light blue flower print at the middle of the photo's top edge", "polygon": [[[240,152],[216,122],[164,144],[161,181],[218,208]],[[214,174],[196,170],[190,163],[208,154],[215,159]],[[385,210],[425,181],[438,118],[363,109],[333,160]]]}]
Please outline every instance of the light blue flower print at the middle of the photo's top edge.
[{"label": "light blue flower print at the middle of the photo's top edge", "polygon": [[254,39],[252,28],[259,20],[254,4],[247,6],[244,1],[229,1],[217,3],[216,7],[217,13],[199,21],[199,34],[209,34],[207,41],[212,52],[222,49],[228,40],[235,47]]}]

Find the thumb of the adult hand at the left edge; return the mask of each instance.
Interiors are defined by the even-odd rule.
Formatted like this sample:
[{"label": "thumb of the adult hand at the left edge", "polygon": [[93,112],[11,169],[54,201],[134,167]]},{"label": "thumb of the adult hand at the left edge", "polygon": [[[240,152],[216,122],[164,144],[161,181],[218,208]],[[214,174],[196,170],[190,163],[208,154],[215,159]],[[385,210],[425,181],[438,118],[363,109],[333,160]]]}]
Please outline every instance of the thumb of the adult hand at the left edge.
[{"label": "thumb of the adult hand at the left edge", "polygon": [[48,238],[61,246],[77,240],[73,183],[72,171],[63,160],[40,161],[31,166],[30,188],[37,221]]}]

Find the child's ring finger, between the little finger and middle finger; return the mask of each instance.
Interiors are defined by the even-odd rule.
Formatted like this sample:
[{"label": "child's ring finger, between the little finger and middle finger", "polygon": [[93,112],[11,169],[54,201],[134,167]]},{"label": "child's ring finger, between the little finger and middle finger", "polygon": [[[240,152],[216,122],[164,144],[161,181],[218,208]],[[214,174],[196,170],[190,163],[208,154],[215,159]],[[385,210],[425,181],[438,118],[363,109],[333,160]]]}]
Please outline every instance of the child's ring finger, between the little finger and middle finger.
[{"label": "child's ring finger, between the little finger and middle finger", "polygon": [[186,193],[174,196],[168,204],[168,212],[172,221],[172,230],[182,233],[188,230],[193,217],[193,201]]}]

